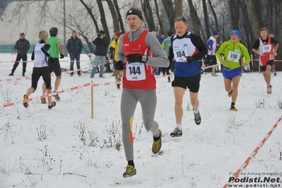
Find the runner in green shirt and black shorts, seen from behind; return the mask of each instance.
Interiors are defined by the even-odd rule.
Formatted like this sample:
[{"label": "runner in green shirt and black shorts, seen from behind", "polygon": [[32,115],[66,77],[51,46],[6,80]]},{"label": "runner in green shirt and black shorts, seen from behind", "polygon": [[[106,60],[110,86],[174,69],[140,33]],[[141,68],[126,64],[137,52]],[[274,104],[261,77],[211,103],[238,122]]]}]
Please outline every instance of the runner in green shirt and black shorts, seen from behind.
[{"label": "runner in green shirt and black shorts, seen from behind", "polygon": [[[50,33],[50,37],[47,40],[47,44],[50,45],[49,54],[51,55],[52,58],[48,59],[48,67],[49,67],[50,74],[52,74],[52,72],[54,72],[54,74],[56,75],[55,88],[54,88],[54,93],[56,93],[57,90],[59,89],[59,85],[61,83],[61,65],[60,65],[60,62],[59,62],[59,58],[63,59],[64,54],[63,54],[62,46],[61,46],[61,39],[57,37],[58,36],[58,28],[51,28],[49,30],[49,33]],[[46,84],[43,83],[43,86],[42,86],[43,95],[45,95],[46,90],[47,90]],[[59,97],[58,94],[53,95],[53,97],[56,100],[61,100],[61,98]],[[46,99],[41,98],[41,103],[45,104]]]}]

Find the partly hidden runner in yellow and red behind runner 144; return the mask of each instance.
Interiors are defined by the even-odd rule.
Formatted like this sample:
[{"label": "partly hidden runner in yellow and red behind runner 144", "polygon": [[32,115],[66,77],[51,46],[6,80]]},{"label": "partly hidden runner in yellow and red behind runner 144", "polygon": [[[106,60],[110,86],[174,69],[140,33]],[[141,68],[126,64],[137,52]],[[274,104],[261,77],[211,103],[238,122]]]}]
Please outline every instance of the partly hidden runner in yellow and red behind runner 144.
[{"label": "partly hidden runner in yellow and red behind runner 144", "polygon": [[113,61],[113,64],[114,64],[114,78],[115,78],[115,81],[117,82],[117,89],[120,89],[120,84],[119,83],[121,81],[120,79],[120,75],[119,75],[119,72],[121,71],[117,71],[116,68],[115,68],[115,64],[117,63],[117,51],[119,49],[119,36],[122,35],[122,33],[120,31],[116,31],[114,32],[114,36],[113,36],[113,40],[112,40],[112,44],[110,46],[110,54],[113,54],[112,56],[112,59],[114,60]]}]

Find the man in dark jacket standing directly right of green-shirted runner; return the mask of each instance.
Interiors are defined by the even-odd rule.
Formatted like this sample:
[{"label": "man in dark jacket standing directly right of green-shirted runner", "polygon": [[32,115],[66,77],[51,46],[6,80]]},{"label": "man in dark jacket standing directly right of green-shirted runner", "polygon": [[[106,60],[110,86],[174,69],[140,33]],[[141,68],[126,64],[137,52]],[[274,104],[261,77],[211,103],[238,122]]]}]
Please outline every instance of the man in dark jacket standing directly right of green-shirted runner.
[{"label": "man in dark jacket standing directly right of green-shirted runner", "polygon": [[[74,70],[74,59],[76,59],[76,68],[78,69],[77,74],[81,76],[81,52],[83,49],[83,45],[81,39],[77,37],[77,33],[73,31],[71,33],[71,38],[66,43],[66,50],[69,52],[69,57],[71,58],[71,67],[70,70]],[[71,72],[71,76],[74,76],[74,72]]]}]

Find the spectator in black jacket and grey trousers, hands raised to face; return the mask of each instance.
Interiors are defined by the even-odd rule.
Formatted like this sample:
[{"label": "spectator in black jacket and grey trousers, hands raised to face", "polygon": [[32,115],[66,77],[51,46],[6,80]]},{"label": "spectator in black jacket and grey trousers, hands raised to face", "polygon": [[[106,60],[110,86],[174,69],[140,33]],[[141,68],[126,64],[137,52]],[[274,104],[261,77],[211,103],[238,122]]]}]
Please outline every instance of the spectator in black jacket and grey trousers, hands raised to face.
[{"label": "spectator in black jacket and grey trousers, hands raised to face", "polygon": [[107,47],[110,45],[110,40],[105,37],[105,32],[103,30],[100,30],[98,33],[98,36],[93,40],[93,45],[96,46],[95,49],[95,59],[93,62],[93,69],[91,71],[90,78],[93,78],[96,70],[98,63],[100,62],[100,78],[105,78],[102,76],[104,73],[104,66],[106,62],[106,57],[107,57]]}]

